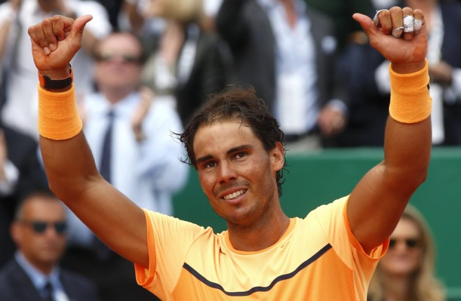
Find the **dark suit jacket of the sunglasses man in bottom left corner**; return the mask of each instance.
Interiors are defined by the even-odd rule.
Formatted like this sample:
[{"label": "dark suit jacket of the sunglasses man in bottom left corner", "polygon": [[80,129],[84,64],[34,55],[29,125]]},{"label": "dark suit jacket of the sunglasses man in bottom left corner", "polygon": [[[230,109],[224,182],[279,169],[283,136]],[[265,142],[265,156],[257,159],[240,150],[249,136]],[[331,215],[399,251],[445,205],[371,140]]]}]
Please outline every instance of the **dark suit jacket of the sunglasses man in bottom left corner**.
[{"label": "dark suit jacket of the sunglasses man in bottom left corner", "polygon": [[[97,301],[96,287],[86,278],[61,270],[61,283],[70,301]],[[40,301],[42,298],[32,281],[19,266],[10,260],[0,270],[0,301]]]}]

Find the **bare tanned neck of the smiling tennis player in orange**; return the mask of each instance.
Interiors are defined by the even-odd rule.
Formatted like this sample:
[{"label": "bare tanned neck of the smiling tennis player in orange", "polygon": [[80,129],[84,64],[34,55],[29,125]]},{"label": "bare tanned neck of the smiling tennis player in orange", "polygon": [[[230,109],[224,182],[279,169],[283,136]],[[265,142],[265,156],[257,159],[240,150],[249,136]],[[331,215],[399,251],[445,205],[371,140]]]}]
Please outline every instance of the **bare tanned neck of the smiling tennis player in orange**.
[{"label": "bare tanned neck of the smiling tennis player in orange", "polygon": [[260,251],[275,244],[283,236],[290,219],[276,202],[272,210],[264,210],[260,220],[250,225],[228,222],[229,239],[239,251]]}]

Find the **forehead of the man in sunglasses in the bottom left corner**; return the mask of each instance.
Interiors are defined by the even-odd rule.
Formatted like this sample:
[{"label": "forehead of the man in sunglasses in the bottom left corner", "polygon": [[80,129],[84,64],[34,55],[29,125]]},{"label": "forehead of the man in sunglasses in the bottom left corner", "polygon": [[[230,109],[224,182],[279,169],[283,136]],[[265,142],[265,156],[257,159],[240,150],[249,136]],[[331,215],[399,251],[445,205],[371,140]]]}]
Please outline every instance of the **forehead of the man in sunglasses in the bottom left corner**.
[{"label": "forehead of the man in sunglasses in the bottom left corner", "polygon": [[23,207],[23,218],[26,220],[55,221],[65,217],[66,210],[57,200],[34,197]]}]

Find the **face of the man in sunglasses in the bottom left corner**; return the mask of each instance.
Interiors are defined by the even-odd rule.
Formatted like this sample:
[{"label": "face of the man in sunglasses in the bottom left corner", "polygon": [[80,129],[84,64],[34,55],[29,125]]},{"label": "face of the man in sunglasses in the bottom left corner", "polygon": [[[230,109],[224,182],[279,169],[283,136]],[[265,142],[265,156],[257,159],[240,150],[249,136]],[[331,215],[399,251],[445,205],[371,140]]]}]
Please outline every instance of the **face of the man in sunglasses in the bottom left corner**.
[{"label": "face of the man in sunglasses in the bottom left corner", "polygon": [[36,267],[54,265],[66,247],[66,211],[59,201],[34,197],[24,204],[12,235],[24,256]]}]

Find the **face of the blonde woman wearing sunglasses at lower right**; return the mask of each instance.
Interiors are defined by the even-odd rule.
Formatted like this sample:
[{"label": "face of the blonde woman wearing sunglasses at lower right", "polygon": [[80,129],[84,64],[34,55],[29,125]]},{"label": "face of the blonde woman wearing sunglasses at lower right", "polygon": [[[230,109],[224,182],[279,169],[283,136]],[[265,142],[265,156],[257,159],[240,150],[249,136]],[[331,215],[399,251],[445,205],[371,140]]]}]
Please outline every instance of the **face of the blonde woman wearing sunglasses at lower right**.
[{"label": "face of the blonde woman wearing sunglasses at lower right", "polygon": [[422,241],[417,225],[402,218],[391,235],[389,250],[379,262],[383,273],[410,276],[422,261]]}]

